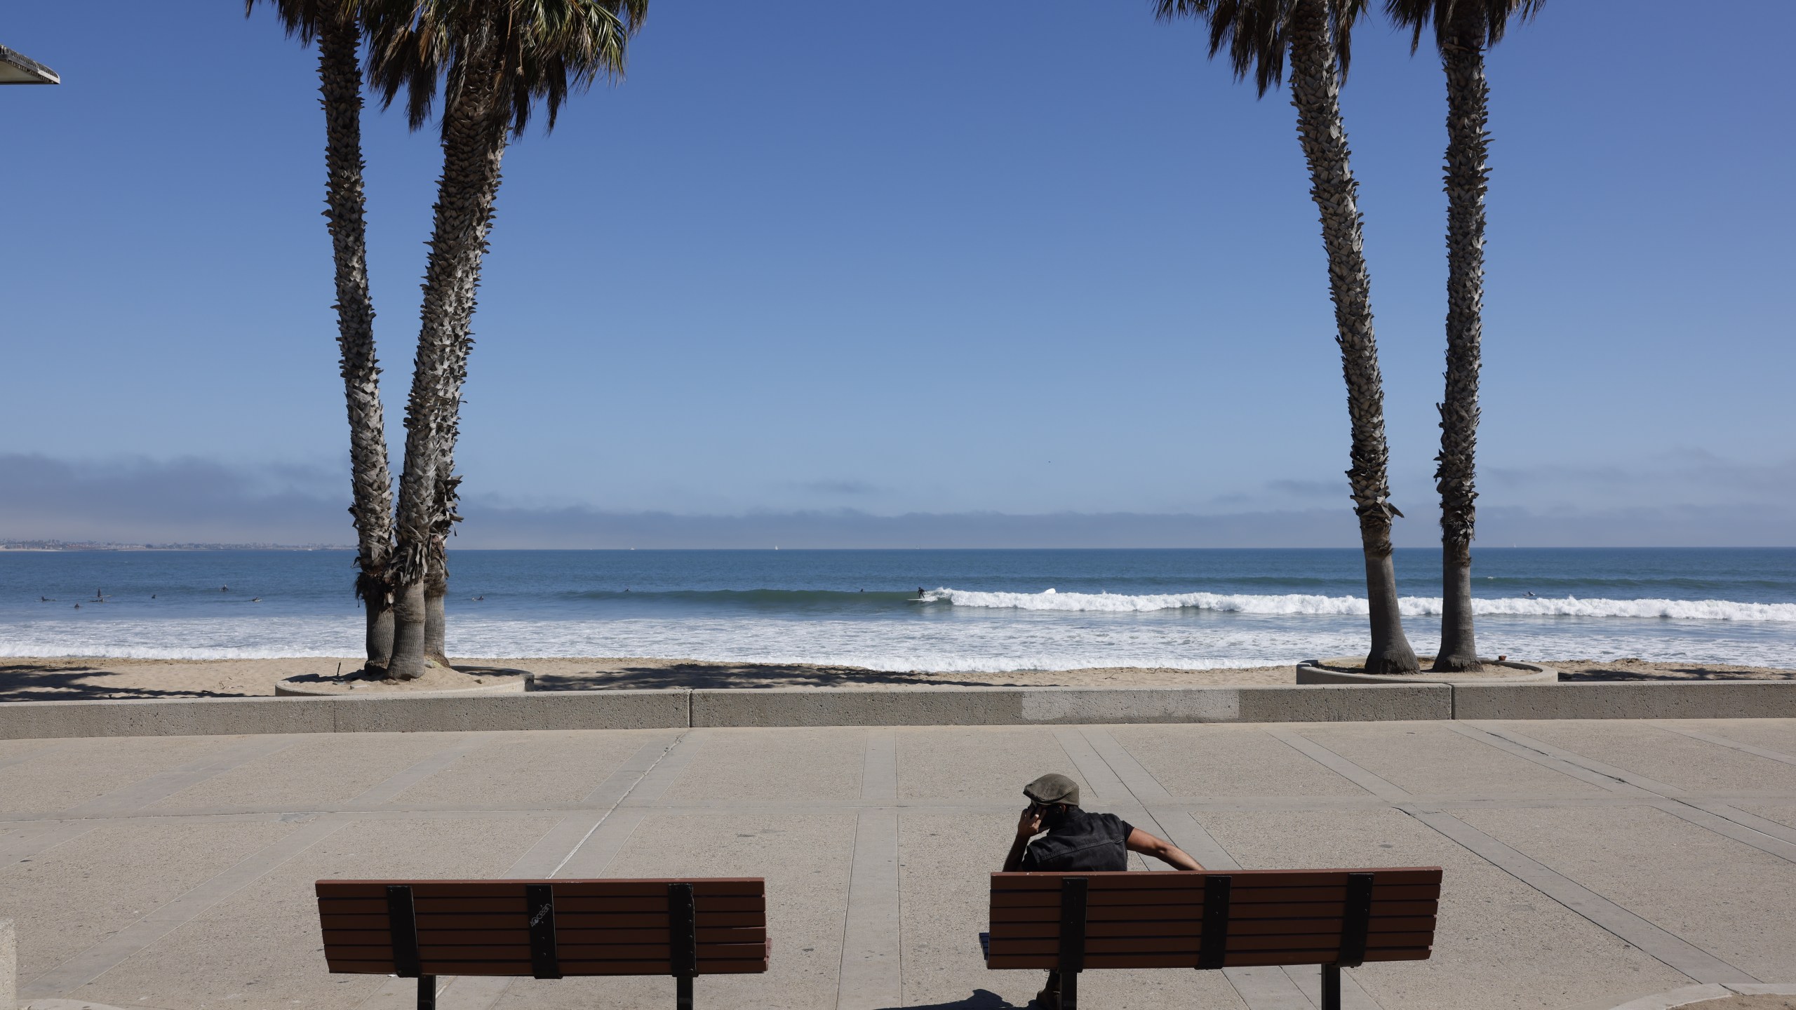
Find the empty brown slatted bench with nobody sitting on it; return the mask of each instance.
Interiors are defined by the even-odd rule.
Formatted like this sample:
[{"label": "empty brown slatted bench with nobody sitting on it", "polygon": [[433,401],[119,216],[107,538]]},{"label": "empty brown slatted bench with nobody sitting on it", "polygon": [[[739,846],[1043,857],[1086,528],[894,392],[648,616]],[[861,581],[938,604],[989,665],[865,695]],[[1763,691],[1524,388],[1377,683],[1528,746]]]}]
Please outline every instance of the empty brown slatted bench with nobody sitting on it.
[{"label": "empty brown slatted bench with nobody sitting on it", "polygon": [[670,974],[681,1010],[700,974],[767,970],[760,877],[681,881],[318,881],[332,972],[436,976]]}]

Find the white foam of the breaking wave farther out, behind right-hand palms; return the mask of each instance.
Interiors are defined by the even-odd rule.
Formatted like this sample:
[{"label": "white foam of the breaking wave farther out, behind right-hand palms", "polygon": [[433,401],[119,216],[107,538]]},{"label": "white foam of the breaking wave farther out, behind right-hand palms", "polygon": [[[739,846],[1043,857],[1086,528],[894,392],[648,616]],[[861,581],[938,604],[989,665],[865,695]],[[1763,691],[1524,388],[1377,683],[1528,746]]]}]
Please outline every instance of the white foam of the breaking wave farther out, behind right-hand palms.
[{"label": "white foam of the breaking wave farther out, behind right-hand palms", "polygon": [[[1245,615],[1363,615],[1363,597],[1315,597],[1302,593],[979,593],[936,589],[930,600],[957,607],[1083,613],[1149,613],[1198,609]],[[1440,597],[1403,597],[1403,616],[1439,616]],[[1633,616],[1679,620],[1787,620],[1796,622],[1796,604],[1742,604],[1733,600],[1579,600],[1575,597],[1509,597],[1473,600],[1475,615],[1514,616]]]}]

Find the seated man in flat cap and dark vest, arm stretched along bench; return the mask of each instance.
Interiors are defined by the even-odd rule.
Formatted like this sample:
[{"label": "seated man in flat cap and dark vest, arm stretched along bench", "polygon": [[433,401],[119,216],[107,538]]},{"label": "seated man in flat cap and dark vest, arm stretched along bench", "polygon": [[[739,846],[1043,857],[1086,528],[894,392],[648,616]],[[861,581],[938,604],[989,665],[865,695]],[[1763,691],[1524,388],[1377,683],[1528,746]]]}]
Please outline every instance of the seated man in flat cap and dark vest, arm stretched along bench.
[{"label": "seated man in flat cap and dark vest, arm stretched along bench", "polygon": [[[1140,852],[1175,870],[1202,870],[1164,837],[1151,836],[1115,814],[1088,814],[1079,809],[1079,784],[1049,773],[1022,787],[1029,807],[1017,820],[1017,841],[1004,857],[1004,872],[1103,872],[1128,870],[1128,854]],[[1040,832],[1047,832],[1029,841]],[[1047,985],[1034,994],[1042,1006],[1060,1006],[1060,972],[1047,972]]]}]

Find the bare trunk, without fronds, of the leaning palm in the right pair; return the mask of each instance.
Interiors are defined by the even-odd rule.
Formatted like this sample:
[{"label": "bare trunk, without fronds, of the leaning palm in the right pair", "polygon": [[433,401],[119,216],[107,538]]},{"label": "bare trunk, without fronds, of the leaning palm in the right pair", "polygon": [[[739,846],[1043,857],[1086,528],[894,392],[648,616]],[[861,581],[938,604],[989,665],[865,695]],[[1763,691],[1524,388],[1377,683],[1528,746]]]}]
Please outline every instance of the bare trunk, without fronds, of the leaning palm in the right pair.
[{"label": "bare trunk, without fronds, of the leaning palm in the right pair", "polygon": [[1297,0],[1291,11],[1291,104],[1297,135],[1309,162],[1309,196],[1322,212],[1322,244],[1329,255],[1329,297],[1334,302],[1336,343],[1347,379],[1347,415],[1352,421],[1354,512],[1365,550],[1365,589],[1372,616],[1369,674],[1421,670],[1403,636],[1397,613],[1397,577],[1390,561],[1390,505],[1385,447],[1385,381],[1378,370],[1372,334],[1372,279],[1365,268],[1358,185],[1349,165],[1347,129],[1340,111],[1340,75],[1329,0]]}]

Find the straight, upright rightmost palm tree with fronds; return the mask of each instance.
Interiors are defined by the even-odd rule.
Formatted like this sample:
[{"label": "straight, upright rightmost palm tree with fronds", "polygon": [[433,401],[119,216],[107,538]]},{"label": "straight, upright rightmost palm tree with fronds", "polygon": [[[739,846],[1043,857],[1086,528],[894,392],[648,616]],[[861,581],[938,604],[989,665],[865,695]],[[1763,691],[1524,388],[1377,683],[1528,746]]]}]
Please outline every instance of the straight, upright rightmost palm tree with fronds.
[{"label": "straight, upright rightmost palm tree with fronds", "polygon": [[1483,340],[1483,192],[1491,137],[1491,88],[1483,50],[1503,38],[1510,16],[1532,18],[1543,0],[1385,0],[1385,13],[1412,29],[1410,52],[1435,25],[1448,77],[1448,374],[1440,410],[1440,652],[1435,670],[1483,669],[1471,622],[1471,537],[1476,527],[1478,343]]}]

